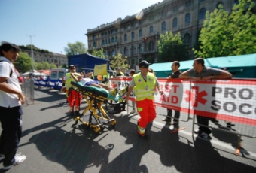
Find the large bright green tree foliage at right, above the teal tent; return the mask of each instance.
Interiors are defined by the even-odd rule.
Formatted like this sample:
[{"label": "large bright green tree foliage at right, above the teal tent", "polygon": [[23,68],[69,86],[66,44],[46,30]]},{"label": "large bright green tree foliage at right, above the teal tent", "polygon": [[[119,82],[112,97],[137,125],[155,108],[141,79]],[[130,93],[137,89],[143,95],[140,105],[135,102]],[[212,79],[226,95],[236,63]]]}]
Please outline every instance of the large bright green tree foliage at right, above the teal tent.
[{"label": "large bright green tree foliage at right, above the teal tent", "polygon": [[251,0],[239,0],[233,5],[231,14],[220,5],[206,20],[201,29],[200,49],[194,49],[196,57],[235,56],[256,53],[256,15]]}]

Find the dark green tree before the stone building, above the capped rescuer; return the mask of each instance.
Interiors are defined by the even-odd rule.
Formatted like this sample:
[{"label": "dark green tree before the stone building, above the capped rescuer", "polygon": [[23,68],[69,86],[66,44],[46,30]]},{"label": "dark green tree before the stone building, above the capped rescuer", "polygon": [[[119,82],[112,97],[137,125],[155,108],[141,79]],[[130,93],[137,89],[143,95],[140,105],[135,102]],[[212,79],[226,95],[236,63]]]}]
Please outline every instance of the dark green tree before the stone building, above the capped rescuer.
[{"label": "dark green tree before the stone building, above the capped rescuer", "polygon": [[182,43],[180,32],[176,35],[173,35],[172,32],[160,35],[157,46],[157,62],[173,62],[188,59],[187,47]]}]

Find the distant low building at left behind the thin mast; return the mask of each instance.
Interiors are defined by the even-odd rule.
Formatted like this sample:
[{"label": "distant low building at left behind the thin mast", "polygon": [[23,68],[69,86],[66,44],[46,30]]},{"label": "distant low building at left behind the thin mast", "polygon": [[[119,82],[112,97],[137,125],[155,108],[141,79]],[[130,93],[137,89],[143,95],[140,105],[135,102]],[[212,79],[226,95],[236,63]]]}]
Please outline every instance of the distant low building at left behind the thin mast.
[{"label": "distant low building at left behind the thin mast", "polygon": [[[21,50],[23,53],[27,53],[30,57],[31,50]],[[34,61],[35,62],[49,62],[57,65],[57,67],[61,67],[62,65],[68,64],[68,59],[66,55],[60,53],[41,53],[33,51]]]}]

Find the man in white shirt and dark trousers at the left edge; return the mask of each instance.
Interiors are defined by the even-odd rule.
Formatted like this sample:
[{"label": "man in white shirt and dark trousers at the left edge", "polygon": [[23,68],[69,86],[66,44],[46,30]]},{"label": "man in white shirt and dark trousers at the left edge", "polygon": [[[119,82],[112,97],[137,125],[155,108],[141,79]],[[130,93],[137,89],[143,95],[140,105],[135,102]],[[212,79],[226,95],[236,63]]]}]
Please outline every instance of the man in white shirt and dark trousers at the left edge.
[{"label": "man in white shirt and dark trousers at the left edge", "polygon": [[19,52],[20,48],[15,44],[2,42],[0,46],[0,161],[3,161],[4,170],[26,159],[26,156],[16,154],[22,133],[21,105],[25,102],[13,64]]}]

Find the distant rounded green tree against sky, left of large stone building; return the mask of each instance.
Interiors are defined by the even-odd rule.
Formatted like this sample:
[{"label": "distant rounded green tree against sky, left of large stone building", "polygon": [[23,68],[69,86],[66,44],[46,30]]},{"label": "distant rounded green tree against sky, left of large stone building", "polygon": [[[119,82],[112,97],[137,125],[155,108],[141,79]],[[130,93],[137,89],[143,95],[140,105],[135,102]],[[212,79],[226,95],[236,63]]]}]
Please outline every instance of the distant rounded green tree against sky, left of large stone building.
[{"label": "distant rounded green tree against sky, left of large stone building", "polygon": [[68,43],[68,47],[64,47],[64,51],[66,52],[67,56],[79,55],[87,53],[87,48],[81,41],[76,41],[74,44]]}]

